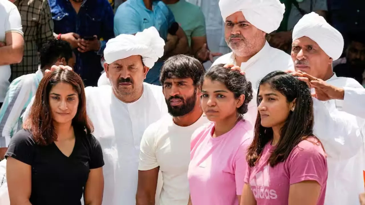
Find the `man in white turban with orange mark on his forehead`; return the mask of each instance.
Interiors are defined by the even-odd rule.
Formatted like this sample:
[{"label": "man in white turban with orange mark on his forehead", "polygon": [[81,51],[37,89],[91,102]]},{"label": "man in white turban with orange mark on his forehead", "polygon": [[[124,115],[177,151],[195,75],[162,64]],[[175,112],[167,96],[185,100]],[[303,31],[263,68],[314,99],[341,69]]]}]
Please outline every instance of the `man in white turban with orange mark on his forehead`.
[{"label": "man in white turban with orange mark on his forehead", "polygon": [[[219,63],[240,66],[252,83],[254,99],[258,82],[275,70],[293,70],[290,55],[269,45],[265,36],[280,26],[285,11],[280,0],[220,0],[225,22],[224,36],[233,52],[219,57]],[[257,105],[251,100],[246,120],[255,123]]]}]

